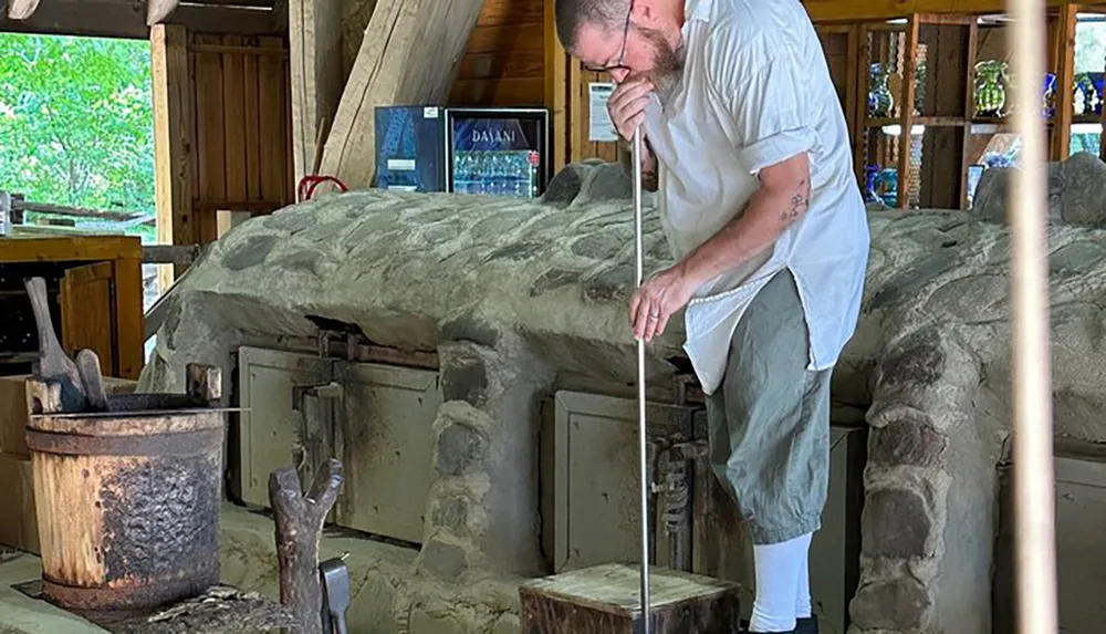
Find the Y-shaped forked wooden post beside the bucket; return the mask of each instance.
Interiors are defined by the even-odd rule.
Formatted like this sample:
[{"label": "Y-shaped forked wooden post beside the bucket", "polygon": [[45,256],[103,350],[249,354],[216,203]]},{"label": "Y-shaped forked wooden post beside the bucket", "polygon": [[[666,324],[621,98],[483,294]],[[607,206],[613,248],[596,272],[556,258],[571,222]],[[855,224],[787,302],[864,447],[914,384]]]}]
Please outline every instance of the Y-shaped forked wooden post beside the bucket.
[{"label": "Y-shaped forked wooden post beside the bucket", "polygon": [[269,503],[276,521],[280,602],[292,613],[300,634],[323,634],[319,539],[343,480],[342,462],[334,458],[315,475],[306,496],[301,493],[294,467],[269,476]]}]

